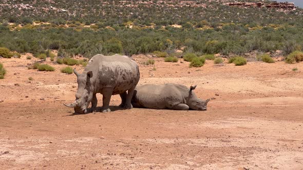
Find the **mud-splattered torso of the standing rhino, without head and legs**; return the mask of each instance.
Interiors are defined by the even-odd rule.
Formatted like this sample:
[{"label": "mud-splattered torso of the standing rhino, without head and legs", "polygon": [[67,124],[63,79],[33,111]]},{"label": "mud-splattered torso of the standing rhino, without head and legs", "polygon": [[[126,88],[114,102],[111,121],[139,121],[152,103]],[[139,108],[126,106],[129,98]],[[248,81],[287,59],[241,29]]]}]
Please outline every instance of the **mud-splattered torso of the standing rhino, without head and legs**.
[{"label": "mud-splattered torso of the standing rhino, without head and legs", "polygon": [[140,78],[139,67],[134,60],[127,56],[115,54],[93,56],[85,71],[93,71],[96,86],[99,91],[102,87],[113,87],[113,95],[121,94],[135,86]]}]

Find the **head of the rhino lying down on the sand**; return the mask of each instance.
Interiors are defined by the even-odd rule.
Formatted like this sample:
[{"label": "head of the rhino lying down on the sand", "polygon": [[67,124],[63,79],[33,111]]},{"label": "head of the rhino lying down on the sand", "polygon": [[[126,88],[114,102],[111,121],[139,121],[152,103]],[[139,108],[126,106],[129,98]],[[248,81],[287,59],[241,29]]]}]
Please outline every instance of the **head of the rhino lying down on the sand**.
[{"label": "head of the rhino lying down on the sand", "polygon": [[188,95],[187,105],[193,110],[206,111],[207,110],[207,107],[206,107],[207,102],[209,102],[211,99],[207,99],[207,100],[199,99],[196,96],[195,92],[193,92],[193,90],[195,90],[196,87],[197,87],[197,85],[191,86],[190,93]]}]

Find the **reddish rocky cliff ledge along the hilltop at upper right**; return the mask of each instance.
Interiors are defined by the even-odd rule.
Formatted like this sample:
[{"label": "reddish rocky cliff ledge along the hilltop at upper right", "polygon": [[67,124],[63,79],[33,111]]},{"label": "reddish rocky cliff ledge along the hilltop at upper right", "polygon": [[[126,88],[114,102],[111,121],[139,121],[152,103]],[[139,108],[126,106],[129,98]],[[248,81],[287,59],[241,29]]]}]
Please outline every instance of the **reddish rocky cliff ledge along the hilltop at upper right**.
[{"label": "reddish rocky cliff ledge along the hilltop at upper right", "polygon": [[267,7],[267,8],[279,8],[286,10],[296,10],[294,3],[226,3],[228,6],[239,6],[239,7]]}]

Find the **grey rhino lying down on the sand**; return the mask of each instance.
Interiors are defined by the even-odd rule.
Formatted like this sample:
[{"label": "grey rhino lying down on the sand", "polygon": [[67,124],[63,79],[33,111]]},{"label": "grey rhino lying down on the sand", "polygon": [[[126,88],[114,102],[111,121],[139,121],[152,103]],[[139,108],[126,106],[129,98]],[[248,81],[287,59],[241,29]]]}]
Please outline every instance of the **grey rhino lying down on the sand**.
[{"label": "grey rhino lying down on the sand", "polygon": [[131,103],[135,108],[205,111],[210,101],[199,99],[193,90],[181,84],[145,84],[136,87]]}]

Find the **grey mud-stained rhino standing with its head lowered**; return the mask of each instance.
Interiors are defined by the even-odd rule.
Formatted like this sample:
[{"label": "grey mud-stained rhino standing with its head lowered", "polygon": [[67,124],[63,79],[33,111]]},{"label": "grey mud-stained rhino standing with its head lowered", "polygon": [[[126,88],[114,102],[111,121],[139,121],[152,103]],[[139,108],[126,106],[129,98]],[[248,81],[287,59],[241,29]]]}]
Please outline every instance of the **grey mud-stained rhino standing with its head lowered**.
[{"label": "grey mud-stained rhino standing with its head lowered", "polygon": [[140,79],[139,67],[134,60],[119,54],[97,54],[89,60],[82,74],[75,69],[73,72],[77,75],[78,82],[76,99],[73,103],[64,105],[74,108],[75,113],[87,113],[90,102],[92,112],[96,111],[97,93],[103,95],[102,112],[110,112],[110,97],[115,94],[120,94],[122,99],[120,107],[132,108],[131,97]]}]

